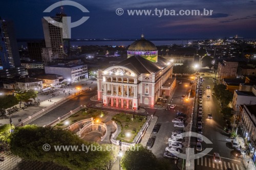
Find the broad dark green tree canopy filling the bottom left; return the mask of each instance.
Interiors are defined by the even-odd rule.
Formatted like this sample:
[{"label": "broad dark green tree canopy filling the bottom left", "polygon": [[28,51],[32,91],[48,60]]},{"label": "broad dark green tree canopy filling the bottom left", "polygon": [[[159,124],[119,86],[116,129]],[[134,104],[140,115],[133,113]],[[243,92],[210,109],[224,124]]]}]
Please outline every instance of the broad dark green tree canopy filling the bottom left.
[{"label": "broad dark green tree canopy filling the bottom left", "polygon": [[[98,150],[100,147],[98,143],[84,141],[72,134],[71,131],[53,127],[44,128],[35,125],[16,127],[9,136],[9,141],[11,152],[20,158],[54,162],[70,169],[102,169],[109,158],[109,152]],[[49,151],[43,150],[42,147],[45,144],[51,146]],[[61,146],[65,147],[66,151],[63,148],[57,150],[56,147]],[[93,150],[93,146],[96,148],[95,150]],[[67,151],[68,148],[69,151]]]}]

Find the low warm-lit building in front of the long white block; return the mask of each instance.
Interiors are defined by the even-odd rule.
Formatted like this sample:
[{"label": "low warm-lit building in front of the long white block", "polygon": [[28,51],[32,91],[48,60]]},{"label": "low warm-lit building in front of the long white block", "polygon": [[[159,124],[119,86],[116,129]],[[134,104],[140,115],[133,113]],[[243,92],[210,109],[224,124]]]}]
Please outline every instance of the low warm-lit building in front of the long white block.
[{"label": "low warm-lit building in front of the long white block", "polygon": [[45,87],[56,87],[62,81],[63,77],[59,75],[41,75],[36,79],[42,80],[42,85]]}]

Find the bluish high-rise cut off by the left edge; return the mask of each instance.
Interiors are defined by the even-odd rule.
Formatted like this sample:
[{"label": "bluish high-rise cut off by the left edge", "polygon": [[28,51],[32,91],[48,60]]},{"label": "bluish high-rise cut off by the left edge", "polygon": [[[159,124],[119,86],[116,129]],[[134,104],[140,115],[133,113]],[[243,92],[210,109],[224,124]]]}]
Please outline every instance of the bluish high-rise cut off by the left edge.
[{"label": "bluish high-rise cut off by the left edge", "polygon": [[12,21],[0,18],[0,69],[20,66],[18,45]]}]

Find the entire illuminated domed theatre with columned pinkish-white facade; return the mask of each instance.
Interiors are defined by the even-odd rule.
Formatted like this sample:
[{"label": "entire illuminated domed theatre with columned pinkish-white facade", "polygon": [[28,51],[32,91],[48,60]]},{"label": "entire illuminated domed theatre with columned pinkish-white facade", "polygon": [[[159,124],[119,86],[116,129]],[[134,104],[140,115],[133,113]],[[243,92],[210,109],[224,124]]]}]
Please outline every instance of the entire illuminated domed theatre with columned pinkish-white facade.
[{"label": "entire illuminated domed theatre with columned pinkish-white facade", "polygon": [[[160,96],[169,96],[173,92],[175,83],[164,86],[167,80],[172,79],[173,64],[158,57],[156,46],[144,36],[135,42],[136,45],[133,43],[129,47],[126,60],[97,71],[98,100],[105,106],[127,109],[154,107]],[[148,52],[154,52],[154,57],[150,57]]]}]

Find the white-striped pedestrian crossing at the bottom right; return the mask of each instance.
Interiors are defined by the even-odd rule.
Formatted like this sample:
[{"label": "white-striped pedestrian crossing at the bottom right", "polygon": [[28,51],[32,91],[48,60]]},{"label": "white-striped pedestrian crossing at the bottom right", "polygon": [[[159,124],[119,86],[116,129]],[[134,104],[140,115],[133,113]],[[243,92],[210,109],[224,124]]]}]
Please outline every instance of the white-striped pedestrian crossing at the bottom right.
[{"label": "white-striped pedestrian crossing at the bottom right", "polygon": [[226,162],[224,160],[221,161],[221,163],[217,163],[212,158],[206,158],[201,157],[199,159],[196,159],[196,164],[198,166],[205,166],[205,167],[211,167],[214,169],[220,169],[220,170],[226,170],[227,168],[231,168],[232,170],[242,170],[242,166],[232,163],[232,162]]}]

